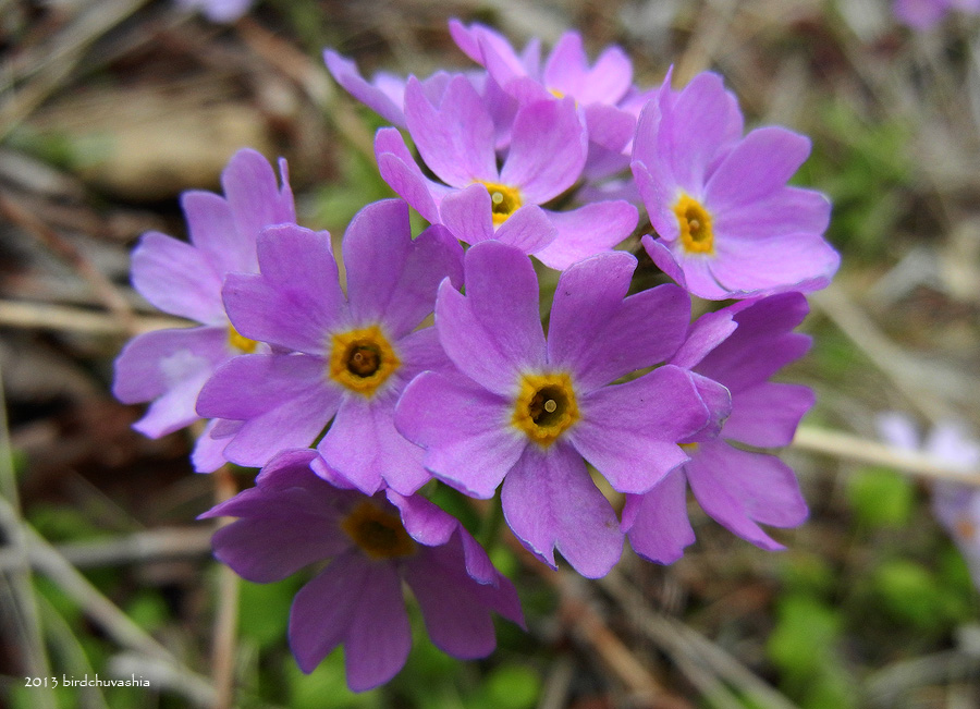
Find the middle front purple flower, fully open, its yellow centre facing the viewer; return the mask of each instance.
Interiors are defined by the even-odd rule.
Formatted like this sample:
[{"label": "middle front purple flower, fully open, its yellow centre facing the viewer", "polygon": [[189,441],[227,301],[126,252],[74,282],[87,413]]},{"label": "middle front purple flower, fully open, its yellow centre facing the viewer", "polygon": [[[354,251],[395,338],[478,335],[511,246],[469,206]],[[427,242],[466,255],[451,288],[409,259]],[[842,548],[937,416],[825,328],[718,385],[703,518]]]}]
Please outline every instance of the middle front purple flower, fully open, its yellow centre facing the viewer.
[{"label": "middle front purple flower, fully open, its yellow centre facing the viewer", "polygon": [[706,388],[709,411],[678,367],[609,386],[673,354],[689,319],[674,285],[625,297],[635,267],[614,252],[564,271],[546,342],[530,261],[499,242],[477,244],[466,253],[466,295],[443,282],[436,305],[458,372],[420,375],[395,414],[432,473],[477,498],[503,482],[517,538],[551,566],[556,548],[589,577],[615,564],[623,535],[586,461],[614,489],[645,492],[687,460],[676,441],[727,414],[721,387]]}]

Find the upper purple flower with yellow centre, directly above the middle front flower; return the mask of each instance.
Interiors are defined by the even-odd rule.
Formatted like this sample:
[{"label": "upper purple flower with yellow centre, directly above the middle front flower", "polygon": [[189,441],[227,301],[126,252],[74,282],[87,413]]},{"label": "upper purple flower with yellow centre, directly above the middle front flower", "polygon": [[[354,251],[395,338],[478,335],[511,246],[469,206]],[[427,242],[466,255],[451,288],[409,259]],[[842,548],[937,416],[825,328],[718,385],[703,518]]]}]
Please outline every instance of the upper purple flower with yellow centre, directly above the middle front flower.
[{"label": "upper purple flower with yellow centre, directly above the middle front flower", "polygon": [[563,212],[538,206],[569,190],[585,164],[586,134],[572,99],[522,107],[500,169],[493,118],[465,77],[454,77],[438,105],[408,80],[405,114],[422,160],[444,185],[425,176],[394,129],[375,142],[381,176],[461,241],[494,239],[563,269],[612,248],[636,227],[636,209],[625,201]]}]

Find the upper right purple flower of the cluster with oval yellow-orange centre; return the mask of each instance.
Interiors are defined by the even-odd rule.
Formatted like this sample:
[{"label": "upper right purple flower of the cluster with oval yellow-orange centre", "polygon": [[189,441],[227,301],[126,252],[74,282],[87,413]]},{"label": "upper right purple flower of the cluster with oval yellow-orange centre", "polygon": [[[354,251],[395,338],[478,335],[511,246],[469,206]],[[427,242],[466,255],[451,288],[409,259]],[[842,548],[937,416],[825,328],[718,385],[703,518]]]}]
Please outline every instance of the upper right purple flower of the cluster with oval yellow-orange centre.
[{"label": "upper right purple flower of the cluster with oval yellow-orange centre", "polygon": [[660,239],[647,252],[695,295],[723,300],[824,288],[840,264],[823,240],[830,203],[786,181],[810,142],[782,127],[742,137],[720,76],[682,91],[670,76],[640,114],[633,173]]}]

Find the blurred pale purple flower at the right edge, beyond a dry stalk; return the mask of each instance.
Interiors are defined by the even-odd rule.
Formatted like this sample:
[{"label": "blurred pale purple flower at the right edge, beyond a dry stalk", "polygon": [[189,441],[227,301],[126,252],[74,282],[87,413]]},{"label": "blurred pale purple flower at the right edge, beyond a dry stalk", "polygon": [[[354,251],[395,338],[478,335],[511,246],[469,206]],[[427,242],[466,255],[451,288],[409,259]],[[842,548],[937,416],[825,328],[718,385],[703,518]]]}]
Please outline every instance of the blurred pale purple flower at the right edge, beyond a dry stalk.
[{"label": "blurred pale purple flower at the right edge, beyond a dry stalk", "polygon": [[[898,448],[921,451],[950,465],[980,473],[980,440],[970,437],[957,421],[938,424],[926,440],[910,417],[882,414],[878,417],[881,437]],[[932,512],[956,542],[980,588],[980,488],[953,481],[940,481],[932,488]]]}]

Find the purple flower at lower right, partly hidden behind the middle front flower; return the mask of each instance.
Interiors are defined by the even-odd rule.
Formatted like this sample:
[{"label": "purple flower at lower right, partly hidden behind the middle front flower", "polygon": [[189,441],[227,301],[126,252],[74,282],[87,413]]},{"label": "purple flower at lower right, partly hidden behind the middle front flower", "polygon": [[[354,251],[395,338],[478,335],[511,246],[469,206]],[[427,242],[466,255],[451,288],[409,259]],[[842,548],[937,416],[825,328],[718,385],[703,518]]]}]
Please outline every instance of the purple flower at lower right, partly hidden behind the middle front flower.
[{"label": "purple flower at lower right, partly hidden behind the middle front flower", "polygon": [[743,301],[702,316],[671,359],[696,375],[724,384],[732,414],[720,431],[685,441],[690,460],[646,494],[626,496],[623,529],[642,557],[672,563],[695,540],[687,518],[687,484],[711,517],[762,549],[783,547],[759,524],[795,527],[807,505],[793,470],[774,455],[733,447],[787,445],[796,426],[813,405],[806,387],[769,381],[784,365],[801,357],[810,338],[792,332],[807,314],[799,293]]}]

